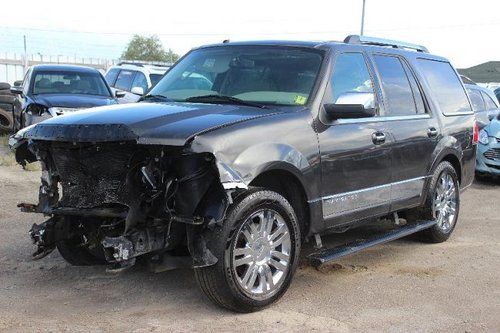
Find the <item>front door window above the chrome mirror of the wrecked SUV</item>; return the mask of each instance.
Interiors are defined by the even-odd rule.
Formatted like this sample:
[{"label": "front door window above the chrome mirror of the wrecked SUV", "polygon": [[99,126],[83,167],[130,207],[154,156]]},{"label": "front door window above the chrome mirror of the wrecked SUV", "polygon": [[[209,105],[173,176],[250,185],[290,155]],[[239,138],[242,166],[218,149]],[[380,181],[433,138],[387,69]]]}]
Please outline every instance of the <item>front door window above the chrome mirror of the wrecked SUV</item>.
[{"label": "front door window above the chrome mirror of the wrecked SUV", "polygon": [[330,89],[334,104],[375,107],[373,82],[362,53],[341,53],[337,56]]}]

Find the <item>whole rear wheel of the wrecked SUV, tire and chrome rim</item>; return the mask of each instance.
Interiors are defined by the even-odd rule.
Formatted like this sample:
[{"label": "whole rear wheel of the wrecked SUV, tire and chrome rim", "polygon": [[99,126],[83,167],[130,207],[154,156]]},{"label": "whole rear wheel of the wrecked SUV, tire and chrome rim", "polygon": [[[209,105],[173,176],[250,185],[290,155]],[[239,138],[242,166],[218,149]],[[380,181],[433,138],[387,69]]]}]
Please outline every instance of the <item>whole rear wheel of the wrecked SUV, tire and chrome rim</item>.
[{"label": "whole rear wheel of the wrecked SUV, tire and chrome rim", "polygon": [[449,162],[444,161],[434,170],[424,206],[408,216],[410,222],[438,220],[438,224],[417,233],[416,237],[426,243],[441,243],[446,241],[455,229],[459,210],[460,188],[457,172]]}]

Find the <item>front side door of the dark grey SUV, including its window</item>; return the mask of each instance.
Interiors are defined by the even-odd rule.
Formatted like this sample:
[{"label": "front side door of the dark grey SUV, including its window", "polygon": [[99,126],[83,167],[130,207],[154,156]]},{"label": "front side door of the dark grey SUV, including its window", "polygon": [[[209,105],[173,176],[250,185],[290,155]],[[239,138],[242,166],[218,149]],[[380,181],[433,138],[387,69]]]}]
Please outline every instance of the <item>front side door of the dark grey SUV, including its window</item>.
[{"label": "front side door of the dark grey SUV, including its window", "polygon": [[[336,55],[323,105],[364,104],[378,107],[372,71],[361,52]],[[324,109],[321,111],[324,114]],[[325,118],[325,117],[324,117]],[[378,117],[321,120],[321,191],[326,227],[374,215],[390,206],[391,142]]]}]

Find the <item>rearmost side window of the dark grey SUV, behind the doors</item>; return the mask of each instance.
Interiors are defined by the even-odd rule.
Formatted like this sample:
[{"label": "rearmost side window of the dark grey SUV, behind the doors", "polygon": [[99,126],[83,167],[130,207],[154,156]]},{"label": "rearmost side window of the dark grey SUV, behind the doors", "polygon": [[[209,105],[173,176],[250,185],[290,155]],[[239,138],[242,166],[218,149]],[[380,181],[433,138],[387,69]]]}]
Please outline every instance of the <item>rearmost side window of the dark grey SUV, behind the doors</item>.
[{"label": "rearmost side window of the dark grey SUV, behind the doors", "polygon": [[471,111],[462,83],[450,63],[421,58],[418,64],[441,112],[453,115]]}]

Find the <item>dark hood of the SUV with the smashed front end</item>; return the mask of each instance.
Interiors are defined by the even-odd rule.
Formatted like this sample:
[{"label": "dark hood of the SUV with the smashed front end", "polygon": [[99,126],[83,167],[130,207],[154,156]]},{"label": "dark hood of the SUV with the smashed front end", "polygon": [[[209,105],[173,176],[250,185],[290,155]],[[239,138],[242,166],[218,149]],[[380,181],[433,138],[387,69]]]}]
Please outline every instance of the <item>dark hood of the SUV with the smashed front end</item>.
[{"label": "dark hood of the SUV with the smashed front end", "polygon": [[31,127],[22,137],[72,142],[136,140],[182,146],[204,132],[275,113],[240,105],[141,102],[51,118]]}]

